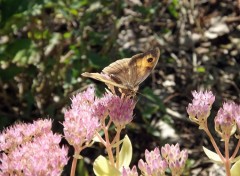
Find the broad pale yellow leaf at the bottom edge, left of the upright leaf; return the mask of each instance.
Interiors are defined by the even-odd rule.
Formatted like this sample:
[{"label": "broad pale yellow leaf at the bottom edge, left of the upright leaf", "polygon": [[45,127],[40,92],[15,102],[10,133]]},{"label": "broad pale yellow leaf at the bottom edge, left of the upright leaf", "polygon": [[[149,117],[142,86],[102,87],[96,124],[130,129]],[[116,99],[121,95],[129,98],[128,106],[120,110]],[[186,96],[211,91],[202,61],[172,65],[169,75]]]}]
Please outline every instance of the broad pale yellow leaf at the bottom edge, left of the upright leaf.
[{"label": "broad pale yellow leaf at the bottom edge, left of the upright leaf", "polygon": [[93,163],[93,171],[97,176],[120,176],[121,173],[102,155]]}]

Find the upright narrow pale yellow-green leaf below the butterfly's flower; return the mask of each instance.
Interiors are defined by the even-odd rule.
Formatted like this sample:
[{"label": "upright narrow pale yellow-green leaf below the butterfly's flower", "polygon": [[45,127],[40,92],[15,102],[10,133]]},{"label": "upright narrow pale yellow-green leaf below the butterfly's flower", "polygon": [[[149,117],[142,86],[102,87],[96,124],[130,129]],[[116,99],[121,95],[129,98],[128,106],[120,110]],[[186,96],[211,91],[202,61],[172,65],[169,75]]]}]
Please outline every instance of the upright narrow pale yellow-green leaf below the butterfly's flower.
[{"label": "upright narrow pale yellow-green leaf below the butterfly's flower", "polygon": [[126,135],[123,139],[122,148],[119,153],[119,166],[129,167],[132,160],[132,143]]}]

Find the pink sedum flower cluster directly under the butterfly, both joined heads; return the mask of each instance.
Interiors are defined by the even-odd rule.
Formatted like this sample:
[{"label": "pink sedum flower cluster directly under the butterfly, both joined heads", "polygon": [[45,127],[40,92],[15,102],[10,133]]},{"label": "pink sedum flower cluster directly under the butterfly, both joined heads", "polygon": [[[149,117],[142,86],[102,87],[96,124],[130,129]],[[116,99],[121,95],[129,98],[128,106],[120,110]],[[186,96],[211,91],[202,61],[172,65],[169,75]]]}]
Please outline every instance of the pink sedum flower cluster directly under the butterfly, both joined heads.
[{"label": "pink sedum flower cluster directly under the butterfly, both joined heads", "polygon": [[116,126],[131,122],[134,107],[134,100],[121,99],[111,93],[97,98],[94,88],[89,87],[72,98],[71,108],[64,114],[65,138],[75,149],[79,149],[91,142],[108,115]]}]

